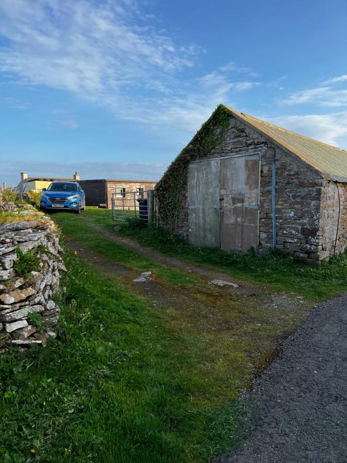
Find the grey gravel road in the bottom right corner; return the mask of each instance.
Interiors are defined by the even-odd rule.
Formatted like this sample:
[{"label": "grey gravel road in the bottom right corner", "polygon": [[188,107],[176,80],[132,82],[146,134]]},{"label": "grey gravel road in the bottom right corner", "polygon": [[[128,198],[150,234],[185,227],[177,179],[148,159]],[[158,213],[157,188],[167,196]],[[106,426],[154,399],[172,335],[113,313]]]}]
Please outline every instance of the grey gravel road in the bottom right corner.
[{"label": "grey gravel road in the bottom right corner", "polygon": [[314,309],[241,400],[243,443],[218,463],[347,462],[347,293]]}]

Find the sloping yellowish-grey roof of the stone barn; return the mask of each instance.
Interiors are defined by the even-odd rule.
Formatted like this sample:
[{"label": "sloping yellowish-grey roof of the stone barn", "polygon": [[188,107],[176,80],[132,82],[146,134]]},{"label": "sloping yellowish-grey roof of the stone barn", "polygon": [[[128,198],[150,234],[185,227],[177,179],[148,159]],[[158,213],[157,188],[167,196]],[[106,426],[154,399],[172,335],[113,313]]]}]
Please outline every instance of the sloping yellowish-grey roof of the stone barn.
[{"label": "sloping yellowish-grey roof of the stone barn", "polygon": [[247,114],[239,113],[233,108],[229,108],[229,106],[225,106],[225,108],[234,117],[250,124],[253,128],[271,138],[272,141],[275,141],[280,147],[296,154],[315,169],[328,174],[331,180],[347,182],[347,151],[290,132]]}]

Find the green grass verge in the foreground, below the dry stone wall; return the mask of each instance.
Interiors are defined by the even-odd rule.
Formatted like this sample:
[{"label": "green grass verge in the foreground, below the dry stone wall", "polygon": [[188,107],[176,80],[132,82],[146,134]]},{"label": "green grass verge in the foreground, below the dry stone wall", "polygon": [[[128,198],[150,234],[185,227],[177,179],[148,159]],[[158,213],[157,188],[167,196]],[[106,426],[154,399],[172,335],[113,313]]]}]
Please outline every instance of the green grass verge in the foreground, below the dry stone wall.
[{"label": "green grass verge in the foreground, below the dry stone wall", "polygon": [[218,351],[225,370],[209,368],[199,336],[75,256],[65,263],[60,339],[0,357],[0,460],[195,462],[232,447],[247,356]]}]

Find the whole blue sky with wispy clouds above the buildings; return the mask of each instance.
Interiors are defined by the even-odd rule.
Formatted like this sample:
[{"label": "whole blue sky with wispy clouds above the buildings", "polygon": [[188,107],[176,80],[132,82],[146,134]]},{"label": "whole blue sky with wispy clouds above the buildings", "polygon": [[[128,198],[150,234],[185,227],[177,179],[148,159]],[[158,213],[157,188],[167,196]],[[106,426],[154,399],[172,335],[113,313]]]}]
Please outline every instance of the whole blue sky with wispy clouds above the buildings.
[{"label": "whole blue sky with wispy clouds above the buildings", "polygon": [[0,182],[158,180],[224,103],[347,149],[347,0],[1,0]]}]

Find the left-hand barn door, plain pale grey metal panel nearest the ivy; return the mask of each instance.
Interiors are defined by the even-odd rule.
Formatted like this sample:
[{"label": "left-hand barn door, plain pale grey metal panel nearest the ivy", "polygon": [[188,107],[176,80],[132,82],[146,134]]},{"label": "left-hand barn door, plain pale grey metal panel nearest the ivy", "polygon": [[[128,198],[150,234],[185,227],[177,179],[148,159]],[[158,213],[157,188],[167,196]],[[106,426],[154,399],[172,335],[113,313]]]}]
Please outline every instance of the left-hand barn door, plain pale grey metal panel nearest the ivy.
[{"label": "left-hand barn door, plain pale grey metal panel nearest the ivy", "polygon": [[188,177],[189,243],[220,247],[220,161],[192,163]]}]

